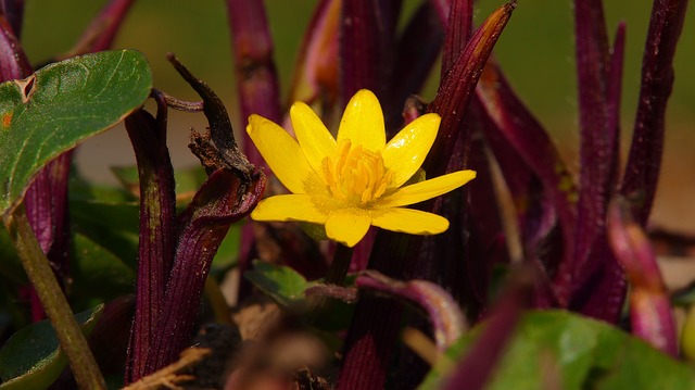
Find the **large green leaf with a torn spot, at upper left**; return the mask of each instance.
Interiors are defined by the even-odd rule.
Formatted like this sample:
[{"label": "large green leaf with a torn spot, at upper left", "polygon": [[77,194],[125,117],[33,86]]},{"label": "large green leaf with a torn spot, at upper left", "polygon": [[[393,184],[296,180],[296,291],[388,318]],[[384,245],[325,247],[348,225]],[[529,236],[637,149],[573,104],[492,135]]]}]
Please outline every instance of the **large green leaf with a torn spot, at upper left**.
[{"label": "large green leaf with a torn spot, at upper left", "polygon": [[103,51],[0,85],[0,210],[23,197],[50,160],[121,122],[152,88],[144,56]]}]

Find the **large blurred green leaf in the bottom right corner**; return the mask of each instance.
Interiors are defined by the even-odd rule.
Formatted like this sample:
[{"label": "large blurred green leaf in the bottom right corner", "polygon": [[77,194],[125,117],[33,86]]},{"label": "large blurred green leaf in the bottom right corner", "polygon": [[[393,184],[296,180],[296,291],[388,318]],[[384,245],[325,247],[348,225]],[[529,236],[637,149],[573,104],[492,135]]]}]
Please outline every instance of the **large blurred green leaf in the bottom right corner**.
[{"label": "large blurred green leaf in the bottom right corner", "polygon": [[[446,355],[465,356],[481,328]],[[608,324],[563,311],[527,313],[486,389],[539,389],[557,378],[560,389],[693,389],[695,372]],[[440,367],[419,389],[438,389]]]}]

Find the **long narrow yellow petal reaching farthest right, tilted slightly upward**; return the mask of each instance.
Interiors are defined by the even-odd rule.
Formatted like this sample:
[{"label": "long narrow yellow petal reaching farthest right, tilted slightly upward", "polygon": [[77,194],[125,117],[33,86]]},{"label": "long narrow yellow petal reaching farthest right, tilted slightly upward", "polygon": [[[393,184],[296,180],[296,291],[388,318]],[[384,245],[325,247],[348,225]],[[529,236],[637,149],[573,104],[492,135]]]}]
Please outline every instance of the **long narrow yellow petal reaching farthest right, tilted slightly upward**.
[{"label": "long narrow yellow petal reaching farthest right, tilted slightly upward", "polygon": [[454,190],[476,177],[476,171],[458,171],[433,179],[399,188],[386,196],[378,206],[396,207],[415,204]]}]

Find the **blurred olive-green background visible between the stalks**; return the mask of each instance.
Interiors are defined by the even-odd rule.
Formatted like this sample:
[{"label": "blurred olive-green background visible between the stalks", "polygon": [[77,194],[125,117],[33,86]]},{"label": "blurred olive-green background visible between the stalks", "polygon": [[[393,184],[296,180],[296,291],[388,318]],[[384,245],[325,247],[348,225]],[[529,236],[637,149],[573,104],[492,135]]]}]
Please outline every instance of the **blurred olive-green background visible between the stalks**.
[{"label": "blurred olive-green background visible between the stalks", "polygon": [[[258,0],[260,1],[260,0]],[[35,62],[67,51],[89,20],[105,1],[27,1],[23,43]],[[276,46],[276,61],[283,91],[290,80],[294,54],[311,17],[315,0],[266,0]],[[407,9],[420,1],[405,0]],[[628,26],[623,77],[622,142],[629,144],[639,91],[640,67],[652,1],[606,0],[609,36],[619,21]],[[480,22],[503,1],[481,1],[476,17]],[[571,168],[577,169],[577,93],[573,54],[572,2],[569,0],[520,1],[495,49],[509,80],[532,112],[557,140]],[[70,10],[70,11],[66,11]],[[684,207],[692,212],[695,183],[695,16],[690,10],[675,58],[675,86],[668,110],[668,133],[662,199],[655,218],[687,228]],[[142,0],[129,14],[116,41],[118,48],[134,48],[147,54],[155,87],[184,99],[197,99],[190,88],[165,61],[175,52],[199,77],[224,99],[237,123],[235,80],[227,14],[223,0]],[[356,48],[358,49],[358,48]],[[424,92],[431,99],[435,80]],[[188,128],[205,126],[202,115],[174,113],[169,135],[175,164],[195,163],[186,150]],[[112,183],[110,165],[134,164],[125,131],[108,131],[90,140],[78,155],[86,175]],[[624,153],[623,153],[624,154]],[[688,180],[690,179],[690,180]],[[664,194],[666,193],[666,194]],[[666,197],[666,198],[664,198]],[[659,200],[657,200],[659,201]],[[675,221],[680,219],[680,221]],[[695,221],[695,219],[691,219]],[[690,224],[693,229],[694,224]]]}]

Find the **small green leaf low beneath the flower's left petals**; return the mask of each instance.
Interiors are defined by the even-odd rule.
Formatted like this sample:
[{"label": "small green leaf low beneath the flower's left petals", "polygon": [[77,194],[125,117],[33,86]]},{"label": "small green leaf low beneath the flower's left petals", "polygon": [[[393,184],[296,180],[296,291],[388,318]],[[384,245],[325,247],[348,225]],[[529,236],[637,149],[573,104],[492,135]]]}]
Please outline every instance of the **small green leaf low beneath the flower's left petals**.
[{"label": "small green leaf low beneath the flower's left petals", "polygon": [[303,303],[304,290],[313,286],[288,266],[260,261],[254,261],[253,269],[247,271],[243,276],[282,306]]}]

